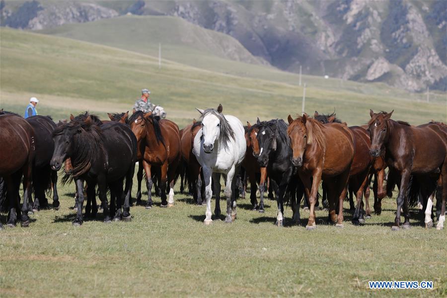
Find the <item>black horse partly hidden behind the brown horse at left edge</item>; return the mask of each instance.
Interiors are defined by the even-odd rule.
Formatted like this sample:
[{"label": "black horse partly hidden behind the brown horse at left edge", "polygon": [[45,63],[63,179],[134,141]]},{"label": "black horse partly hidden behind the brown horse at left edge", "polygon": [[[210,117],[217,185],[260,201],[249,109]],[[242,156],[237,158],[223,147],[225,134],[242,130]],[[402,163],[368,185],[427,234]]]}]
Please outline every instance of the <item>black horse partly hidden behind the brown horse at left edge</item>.
[{"label": "black horse partly hidden behind the brown horse at left edge", "polygon": [[[59,209],[57,191],[58,173],[51,169],[50,161],[53,156],[53,131],[56,124],[50,116],[32,116],[26,121],[33,127],[36,135],[35,157],[33,163],[33,191],[34,204],[32,210],[48,208],[45,192],[53,188],[53,208]],[[29,202],[32,204],[32,202]]]}]

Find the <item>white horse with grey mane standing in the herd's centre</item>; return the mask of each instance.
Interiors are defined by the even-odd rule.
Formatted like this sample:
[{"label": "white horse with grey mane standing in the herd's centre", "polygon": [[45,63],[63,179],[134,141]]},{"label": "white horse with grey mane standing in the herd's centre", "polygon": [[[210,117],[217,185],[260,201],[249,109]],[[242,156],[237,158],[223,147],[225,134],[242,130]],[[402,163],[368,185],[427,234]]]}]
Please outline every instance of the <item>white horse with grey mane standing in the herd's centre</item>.
[{"label": "white horse with grey mane standing in the herd's centre", "polygon": [[216,219],[221,216],[220,193],[221,174],[224,174],[226,197],[225,223],[236,219],[236,200],[234,196],[235,180],[247,148],[242,123],[234,116],[223,115],[222,105],[217,110],[197,109],[201,114],[202,129],[194,138],[193,152],[203,169],[205,180],[205,197],[207,211],[205,224],[212,224],[211,219],[211,175],[214,180],[216,195]]}]

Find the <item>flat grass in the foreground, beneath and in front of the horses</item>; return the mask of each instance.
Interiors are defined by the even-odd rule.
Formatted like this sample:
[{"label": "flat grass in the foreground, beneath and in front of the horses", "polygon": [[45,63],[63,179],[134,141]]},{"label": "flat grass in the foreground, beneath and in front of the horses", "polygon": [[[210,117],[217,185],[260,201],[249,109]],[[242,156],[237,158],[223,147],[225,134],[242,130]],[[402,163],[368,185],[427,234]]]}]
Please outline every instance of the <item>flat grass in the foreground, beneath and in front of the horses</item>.
[{"label": "flat grass in the foreground, beneath and in front of the horses", "polygon": [[[327,225],[326,211],[314,231],[291,226],[290,207],[278,228],[276,204],[267,200],[259,214],[249,199],[238,200],[233,224],[206,226],[205,207],[181,194],[173,208],[158,207],[159,198],[149,211],[132,207],[130,223],[103,224],[100,212],[76,228],[73,192],[60,187],[59,211],[0,232],[1,297],[447,295],[446,230],[426,230],[412,213],[410,230],[391,231],[394,199],[365,226],[348,213],[344,229]],[[303,224],[307,216],[301,211]],[[369,290],[373,280],[433,281],[435,289]]]}]

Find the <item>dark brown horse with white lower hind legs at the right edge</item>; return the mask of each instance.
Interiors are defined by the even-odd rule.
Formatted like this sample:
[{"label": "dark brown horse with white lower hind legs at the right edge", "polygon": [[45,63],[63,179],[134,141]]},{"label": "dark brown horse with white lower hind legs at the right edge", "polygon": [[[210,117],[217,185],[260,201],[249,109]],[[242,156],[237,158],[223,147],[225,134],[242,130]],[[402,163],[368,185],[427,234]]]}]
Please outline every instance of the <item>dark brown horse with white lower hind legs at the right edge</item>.
[{"label": "dark brown horse with white lower hind legs at the right edge", "polygon": [[[412,127],[408,123],[391,120],[392,113],[374,114],[370,110],[371,120],[368,123],[372,140],[371,155],[377,157],[384,149],[385,161],[390,171],[400,176],[397,212],[392,229],[400,228],[402,207],[405,217],[403,227],[410,227],[408,209],[412,202],[409,202],[406,193],[411,189],[411,176],[424,179],[435,176],[434,179],[439,179],[443,189],[443,203],[437,228],[442,229],[447,197],[447,132],[436,123]],[[436,188],[436,184],[434,185]],[[432,192],[435,189],[430,191]]]}]

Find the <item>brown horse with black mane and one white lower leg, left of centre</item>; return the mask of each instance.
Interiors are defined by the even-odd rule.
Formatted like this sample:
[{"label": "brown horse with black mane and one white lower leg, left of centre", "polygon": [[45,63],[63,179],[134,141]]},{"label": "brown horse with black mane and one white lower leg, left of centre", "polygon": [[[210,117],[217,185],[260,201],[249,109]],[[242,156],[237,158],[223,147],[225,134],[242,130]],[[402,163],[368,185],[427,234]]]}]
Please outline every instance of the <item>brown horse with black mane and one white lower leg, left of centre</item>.
[{"label": "brown horse with black mane and one white lower leg, left of centre", "polygon": [[[161,207],[174,205],[174,183],[181,160],[180,133],[177,124],[137,111],[129,118],[132,132],[137,137],[138,160],[143,161],[148,187],[147,209],[152,208],[152,167],[160,167]],[[169,182],[169,202],[166,201],[166,182]]]}]

